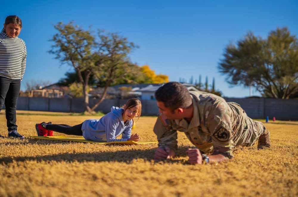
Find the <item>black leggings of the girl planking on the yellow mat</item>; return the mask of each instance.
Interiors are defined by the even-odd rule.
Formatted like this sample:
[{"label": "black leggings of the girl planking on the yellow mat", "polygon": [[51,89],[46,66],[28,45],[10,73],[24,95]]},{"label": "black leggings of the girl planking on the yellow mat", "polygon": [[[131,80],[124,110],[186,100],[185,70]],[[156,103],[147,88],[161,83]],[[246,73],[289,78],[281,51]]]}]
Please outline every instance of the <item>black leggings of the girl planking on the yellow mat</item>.
[{"label": "black leggings of the girl planking on the yellow mat", "polygon": [[83,122],[79,125],[69,126],[65,124],[47,124],[46,129],[56,131],[58,133],[63,133],[67,135],[83,135],[82,131]]}]

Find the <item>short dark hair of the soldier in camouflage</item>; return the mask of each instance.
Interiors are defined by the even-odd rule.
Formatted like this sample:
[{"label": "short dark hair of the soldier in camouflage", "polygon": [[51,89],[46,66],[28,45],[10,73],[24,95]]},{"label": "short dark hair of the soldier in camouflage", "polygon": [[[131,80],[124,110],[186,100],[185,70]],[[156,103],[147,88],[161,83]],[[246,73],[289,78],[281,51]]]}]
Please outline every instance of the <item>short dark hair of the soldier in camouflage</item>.
[{"label": "short dark hair of the soldier in camouflage", "polygon": [[192,104],[190,92],[186,86],[178,82],[169,82],[161,86],[155,92],[155,98],[172,112],[179,107],[186,109]]}]

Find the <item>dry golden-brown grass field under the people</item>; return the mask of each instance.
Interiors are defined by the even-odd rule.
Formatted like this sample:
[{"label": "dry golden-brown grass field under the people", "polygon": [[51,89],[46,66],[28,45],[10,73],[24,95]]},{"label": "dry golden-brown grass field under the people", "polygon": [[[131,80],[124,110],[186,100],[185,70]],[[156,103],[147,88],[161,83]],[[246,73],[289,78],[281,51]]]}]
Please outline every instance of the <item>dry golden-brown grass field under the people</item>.
[{"label": "dry golden-brown grass field under the people", "polygon": [[[185,151],[194,146],[183,133],[176,157],[165,162],[153,160],[157,144],[29,137],[38,122],[75,125],[88,118],[99,117],[17,111],[26,139],[0,139],[0,196],[298,196],[298,122],[270,120],[271,150],[236,148],[234,159],[208,165],[188,164]],[[155,120],[140,117],[133,132],[155,141]],[[4,110],[0,134],[7,136]]]}]

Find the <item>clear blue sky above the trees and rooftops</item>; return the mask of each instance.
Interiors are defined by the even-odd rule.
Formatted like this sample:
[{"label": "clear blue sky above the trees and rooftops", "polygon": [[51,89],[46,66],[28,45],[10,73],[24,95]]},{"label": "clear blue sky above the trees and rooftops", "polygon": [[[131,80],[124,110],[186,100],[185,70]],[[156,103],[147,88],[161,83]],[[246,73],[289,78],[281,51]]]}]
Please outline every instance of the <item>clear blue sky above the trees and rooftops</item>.
[{"label": "clear blue sky above the trees and rooftops", "polygon": [[[296,0],[110,0],[110,1],[11,1],[1,6],[0,20],[18,15],[23,23],[19,35],[27,45],[26,82],[57,82],[71,66],[63,65],[47,51],[56,33],[53,25],[62,21],[93,30],[105,29],[127,37],[140,48],[130,55],[139,66],[148,64],[156,74],[170,81],[215,78],[215,89],[225,97],[248,97],[249,88],[230,87],[218,72],[218,62],[230,42],[242,39],[248,31],[266,37],[277,27],[288,27],[298,36]],[[260,94],[252,90],[252,96]]]}]

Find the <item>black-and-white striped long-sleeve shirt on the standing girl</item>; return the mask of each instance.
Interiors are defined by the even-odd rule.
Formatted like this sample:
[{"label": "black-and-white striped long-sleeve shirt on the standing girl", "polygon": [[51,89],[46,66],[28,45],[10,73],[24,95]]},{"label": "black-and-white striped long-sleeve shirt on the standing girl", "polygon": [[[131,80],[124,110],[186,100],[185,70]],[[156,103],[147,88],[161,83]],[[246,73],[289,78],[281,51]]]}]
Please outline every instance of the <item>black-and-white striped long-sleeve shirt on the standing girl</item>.
[{"label": "black-and-white striped long-sleeve shirt on the standing girl", "polygon": [[21,79],[26,69],[27,49],[25,42],[18,37],[10,38],[0,33],[0,76]]}]

